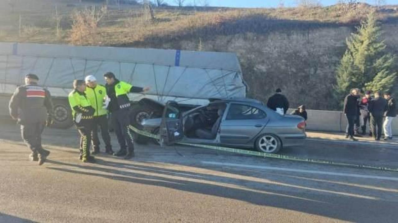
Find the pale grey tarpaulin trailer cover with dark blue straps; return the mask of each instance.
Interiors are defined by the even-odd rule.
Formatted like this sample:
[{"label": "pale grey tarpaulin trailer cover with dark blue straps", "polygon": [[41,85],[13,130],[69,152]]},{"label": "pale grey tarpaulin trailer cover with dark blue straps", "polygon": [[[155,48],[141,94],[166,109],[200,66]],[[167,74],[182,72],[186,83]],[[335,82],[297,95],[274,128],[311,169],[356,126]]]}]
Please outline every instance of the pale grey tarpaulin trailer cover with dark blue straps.
[{"label": "pale grey tarpaulin trailer cover with dark blue straps", "polygon": [[234,53],[0,42],[1,93],[12,93],[5,86],[21,85],[27,73],[38,75],[40,85],[65,89],[87,75],[103,83],[108,71],[135,86],[150,86],[148,94],[159,99],[246,96]]}]

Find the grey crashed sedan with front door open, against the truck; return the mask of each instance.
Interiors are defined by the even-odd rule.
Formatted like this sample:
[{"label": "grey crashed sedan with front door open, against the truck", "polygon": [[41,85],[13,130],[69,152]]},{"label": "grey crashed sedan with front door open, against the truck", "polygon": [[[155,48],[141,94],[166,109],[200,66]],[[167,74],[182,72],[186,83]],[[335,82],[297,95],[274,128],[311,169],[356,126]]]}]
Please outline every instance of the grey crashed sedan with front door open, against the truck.
[{"label": "grey crashed sedan with front door open, against the truck", "polygon": [[144,119],[146,131],[160,135],[160,142],[256,148],[277,153],[283,146],[300,146],[306,138],[304,119],[280,115],[253,99],[215,100],[187,112],[168,102],[162,118]]}]

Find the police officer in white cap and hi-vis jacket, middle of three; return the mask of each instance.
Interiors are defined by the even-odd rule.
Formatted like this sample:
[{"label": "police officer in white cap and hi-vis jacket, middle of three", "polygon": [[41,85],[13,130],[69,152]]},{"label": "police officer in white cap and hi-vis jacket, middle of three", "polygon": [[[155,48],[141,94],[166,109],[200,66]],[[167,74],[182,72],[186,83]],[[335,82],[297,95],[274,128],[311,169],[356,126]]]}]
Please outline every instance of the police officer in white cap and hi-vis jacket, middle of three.
[{"label": "police officer in white cap and hi-vis jacket, middle of three", "polygon": [[98,138],[98,126],[101,129],[102,140],[105,143],[105,152],[107,154],[113,154],[111,146],[111,137],[109,136],[108,130],[108,111],[104,107],[104,100],[107,98],[106,89],[103,85],[97,84],[97,79],[93,76],[87,76],[86,79],[86,96],[91,103],[91,106],[96,110],[94,113],[94,120],[92,126],[92,143],[93,152],[92,154],[98,154],[100,152],[100,139]]}]

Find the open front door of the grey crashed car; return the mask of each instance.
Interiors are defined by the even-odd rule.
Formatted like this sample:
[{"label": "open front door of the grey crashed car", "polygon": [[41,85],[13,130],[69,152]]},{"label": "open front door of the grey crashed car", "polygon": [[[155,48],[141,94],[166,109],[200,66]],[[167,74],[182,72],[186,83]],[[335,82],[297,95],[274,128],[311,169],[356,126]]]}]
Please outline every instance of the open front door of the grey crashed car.
[{"label": "open front door of the grey crashed car", "polygon": [[174,144],[183,138],[182,114],[177,102],[168,101],[166,103],[159,134],[161,146]]}]

